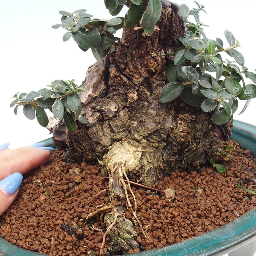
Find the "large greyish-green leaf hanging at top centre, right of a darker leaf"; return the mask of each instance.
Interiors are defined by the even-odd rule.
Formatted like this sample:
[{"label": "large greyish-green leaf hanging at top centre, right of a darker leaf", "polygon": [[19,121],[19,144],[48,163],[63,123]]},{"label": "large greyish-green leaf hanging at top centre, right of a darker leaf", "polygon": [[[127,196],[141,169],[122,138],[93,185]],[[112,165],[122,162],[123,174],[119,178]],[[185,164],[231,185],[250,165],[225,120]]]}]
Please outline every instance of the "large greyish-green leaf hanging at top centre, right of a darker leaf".
[{"label": "large greyish-green leaf hanging at top centre, right of a darker leaf", "polygon": [[140,20],[140,26],[142,28],[152,28],[156,22],[160,19],[162,12],[161,0],[149,0],[146,11],[142,15]]}]

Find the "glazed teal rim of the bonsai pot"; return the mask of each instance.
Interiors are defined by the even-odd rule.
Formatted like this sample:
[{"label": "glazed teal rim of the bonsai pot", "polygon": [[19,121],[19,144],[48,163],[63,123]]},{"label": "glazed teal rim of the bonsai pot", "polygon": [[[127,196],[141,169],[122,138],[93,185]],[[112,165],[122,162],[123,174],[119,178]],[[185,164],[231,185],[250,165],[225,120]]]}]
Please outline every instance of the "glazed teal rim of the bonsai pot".
[{"label": "glazed teal rim of the bonsai pot", "polygon": [[[236,140],[242,148],[252,151],[256,156],[256,126],[234,120],[231,139]],[[54,147],[51,139],[44,140]],[[256,208],[236,220],[200,236],[164,246],[159,249],[139,252],[133,256],[210,256],[256,236]],[[24,250],[13,245],[0,236],[0,255],[5,256],[39,256],[46,255]]]}]

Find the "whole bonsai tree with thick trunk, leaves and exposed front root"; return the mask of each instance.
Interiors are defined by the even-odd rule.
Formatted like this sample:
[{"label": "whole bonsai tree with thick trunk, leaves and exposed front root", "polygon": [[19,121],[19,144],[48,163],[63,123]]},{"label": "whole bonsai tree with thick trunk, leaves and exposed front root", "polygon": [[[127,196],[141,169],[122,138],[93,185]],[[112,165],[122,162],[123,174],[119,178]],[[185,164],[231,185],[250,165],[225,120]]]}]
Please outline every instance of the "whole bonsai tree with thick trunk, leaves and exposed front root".
[{"label": "whole bonsai tree with thick trunk, leaves and exposed front root", "polygon": [[[167,0],[104,3],[113,16],[127,5],[126,17],[60,11],[61,23],[53,26],[67,30],[63,41],[72,37],[98,60],[83,84],[55,80],[49,89],[16,94],[11,106],[16,113],[22,105],[26,117],[47,126],[69,161],[102,164],[112,204],[85,221],[111,209],[104,216],[106,234],[124,253],[138,246],[126,207],[141,227],[124,178],[151,186],[173,170],[210,163],[230,138],[237,98],[245,100],[244,111],[256,97],[256,74],[244,66],[231,32],[225,31],[225,43],[207,38],[199,19],[204,6],[197,2],[191,10]],[[120,28],[121,39],[114,36]],[[45,108],[55,119],[48,121]]]}]

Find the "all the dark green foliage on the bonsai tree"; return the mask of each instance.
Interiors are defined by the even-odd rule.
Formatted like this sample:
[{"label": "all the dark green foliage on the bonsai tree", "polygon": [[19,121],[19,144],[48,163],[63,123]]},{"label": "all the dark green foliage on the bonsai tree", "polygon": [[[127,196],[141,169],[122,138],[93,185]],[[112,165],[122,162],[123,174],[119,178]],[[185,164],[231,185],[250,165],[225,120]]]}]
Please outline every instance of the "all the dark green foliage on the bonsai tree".
[{"label": "all the dark green foliage on the bonsai tree", "polygon": [[[104,3],[112,15],[117,15],[127,5],[126,27],[143,29],[148,36],[154,32],[162,12],[161,0],[104,0]],[[244,57],[235,49],[240,44],[230,31],[224,32],[228,43],[226,48],[219,37],[215,40],[207,38],[202,28],[205,25],[199,19],[199,12],[204,11],[204,6],[195,3],[198,8],[192,10],[185,4],[180,5],[188,30],[180,38],[182,46],[175,53],[163,54],[174,55],[174,59],[167,66],[166,77],[169,83],[163,87],[159,100],[165,103],[180,97],[191,106],[212,112],[212,122],[221,125],[237,110],[237,98],[246,100],[242,113],[250,100],[256,97],[256,74],[244,67]],[[114,37],[114,34],[123,28],[124,18],[92,19],[92,15],[84,9],[73,13],[60,11],[60,14],[61,23],[52,28],[66,29],[63,41],[72,37],[82,51],[91,48],[94,57],[103,65],[106,52],[115,51],[115,42],[119,38]],[[195,21],[189,21],[189,16],[193,16]],[[132,28],[134,26],[136,28]],[[223,53],[227,54],[225,58],[231,57],[232,60],[223,60]],[[244,77],[252,83],[245,84]],[[23,105],[24,115],[28,119],[36,117],[42,126],[48,124],[44,109],[49,109],[57,120],[63,118],[70,131],[75,130],[76,120],[87,123],[86,118],[81,116],[81,102],[77,95],[82,85],[77,86],[73,80],[55,80],[49,87],[51,89],[44,88],[28,95],[14,95],[15,100],[10,106],[15,106],[15,115],[18,106]]]}]

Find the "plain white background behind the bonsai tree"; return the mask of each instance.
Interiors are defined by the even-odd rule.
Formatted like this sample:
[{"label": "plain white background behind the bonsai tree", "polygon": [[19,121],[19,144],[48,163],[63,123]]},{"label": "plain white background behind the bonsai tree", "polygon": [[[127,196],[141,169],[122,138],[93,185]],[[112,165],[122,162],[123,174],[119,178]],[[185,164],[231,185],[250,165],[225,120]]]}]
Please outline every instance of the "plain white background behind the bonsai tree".
[{"label": "plain white background behind the bonsai tree", "polygon": [[[191,9],[196,7],[194,1],[177,0],[178,4],[187,4]],[[224,31],[231,31],[242,47],[237,49],[244,55],[245,66],[254,71],[255,59],[255,7],[249,0],[237,1],[204,1],[207,15],[200,15],[208,38],[220,37],[224,45]],[[82,52],[71,38],[62,41],[66,30],[52,29],[60,23],[60,10],[73,12],[86,9],[93,18],[110,19],[112,16],[105,9],[103,0],[1,0],[1,93],[0,93],[0,145],[10,142],[9,148],[30,145],[51,135],[41,127],[36,119],[28,120],[18,109],[17,116],[10,108],[12,96],[17,92],[38,91],[53,80],[75,79],[81,84],[87,68],[95,62],[90,50]],[[124,16],[127,9],[122,11]],[[119,34],[120,36],[120,34]],[[250,81],[248,83],[251,83]],[[256,125],[255,106],[252,100],[247,110],[240,116],[244,101],[240,101],[234,118]]]}]

